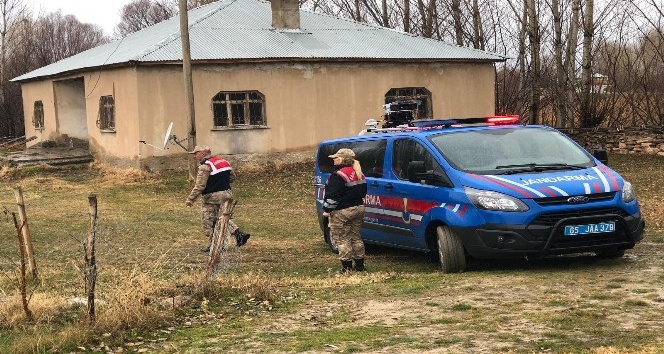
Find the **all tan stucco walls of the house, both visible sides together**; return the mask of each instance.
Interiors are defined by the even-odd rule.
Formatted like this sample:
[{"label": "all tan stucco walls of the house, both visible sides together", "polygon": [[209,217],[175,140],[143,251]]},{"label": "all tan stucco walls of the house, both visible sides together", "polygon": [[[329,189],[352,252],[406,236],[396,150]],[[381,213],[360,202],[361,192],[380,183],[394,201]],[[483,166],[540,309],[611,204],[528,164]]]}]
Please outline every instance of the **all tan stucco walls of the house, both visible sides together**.
[{"label": "all tan stucco walls of the house, both visible sides together", "polygon": [[[179,65],[106,69],[59,78],[72,79],[79,82],[82,79],[84,89],[59,90],[59,95],[83,96],[78,102],[84,102],[87,138],[96,159],[138,166],[139,159],[184,157],[184,149],[170,143],[166,150],[150,146],[163,144],[170,122],[174,123],[172,134],[178,139],[187,137],[186,101]],[[428,89],[435,118],[491,115],[494,80],[494,67],[490,63],[195,66],[197,143],[225,155],[312,149],[321,140],[357,134],[369,118],[381,119],[385,94],[400,87]],[[32,144],[62,134],[56,121],[54,87],[57,85],[53,85],[53,80],[22,86],[26,134],[38,136]],[[220,91],[251,90],[258,90],[265,97],[267,128],[213,129],[212,98]],[[114,132],[101,131],[96,126],[99,99],[105,95],[113,95],[115,99]],[[32,128],[35,100],[44,103],[43,131]],[[65,101],[66,95],[58,98],[60,103]],[[186,140],[182,143],[187,145]]]}]

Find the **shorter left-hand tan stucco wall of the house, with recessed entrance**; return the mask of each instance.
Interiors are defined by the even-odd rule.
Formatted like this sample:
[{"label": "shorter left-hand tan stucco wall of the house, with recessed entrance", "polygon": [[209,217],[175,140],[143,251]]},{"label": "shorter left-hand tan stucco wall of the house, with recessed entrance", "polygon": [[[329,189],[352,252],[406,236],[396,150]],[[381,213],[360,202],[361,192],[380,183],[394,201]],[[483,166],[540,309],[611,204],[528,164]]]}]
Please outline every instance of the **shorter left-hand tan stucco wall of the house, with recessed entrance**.
[{"label": "shorter left-hand tan stucco wall of the house, with recessed entrance", "polygon": [[[82,87],[78,87],[82,84]],[[59,140],[63,135],[87,140],[96,157],[115,155],[135,158],[138,154],[138,98],[136,73],[133,68],[94,71],[71,75],[57,80],[24,83],[23,109],[26,136],[37,136],[29,146],[47,140]],[[115,132],[103,132],[97,127],[99,99],[115,98]],[[44,105],[44,128],[36,130],[32,124],[34,102]],[[83,116],[79,118],[79,116]]]}]

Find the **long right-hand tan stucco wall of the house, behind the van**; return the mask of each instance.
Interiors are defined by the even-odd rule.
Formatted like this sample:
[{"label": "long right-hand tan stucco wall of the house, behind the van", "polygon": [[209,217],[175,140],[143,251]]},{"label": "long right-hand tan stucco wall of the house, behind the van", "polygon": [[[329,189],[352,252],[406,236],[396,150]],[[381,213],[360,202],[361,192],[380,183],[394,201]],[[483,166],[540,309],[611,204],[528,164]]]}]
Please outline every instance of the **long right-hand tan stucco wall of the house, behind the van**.
[{"label": "long right-hand tan stucco wall of the house, behind the van", "polygon": [[[140,68],[140,131],[163,140],[187,136],[186,102],[179,68]],[[380,118],[391,88],[431,91],[436,118],[494,113],[491,64],[264,64],[195,67],[197,143],[223,154],[273,153],[312,148],[321,140],[357,134]],[[265,95],[267,129],[213,130],[211,101],[219,91],[258,90]],[[153,122],[153,123],[151,123]],[[146,148],[146,153],[149,154]],[[155,156],[163,152],[151,152]],[[182,152],[172,146],[171,153]]]}]

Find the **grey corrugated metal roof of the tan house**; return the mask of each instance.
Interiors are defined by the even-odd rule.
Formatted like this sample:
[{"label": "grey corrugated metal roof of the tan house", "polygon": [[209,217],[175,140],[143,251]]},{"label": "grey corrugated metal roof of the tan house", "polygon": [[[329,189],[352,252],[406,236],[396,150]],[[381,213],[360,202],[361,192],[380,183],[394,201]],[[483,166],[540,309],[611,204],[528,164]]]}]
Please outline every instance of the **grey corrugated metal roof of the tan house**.
[{"label": "grey corrugated metal roof of the tan house", "polygon": [[[389,28],[301,10],[300,30],[272,27],[270,3],[220,0],[189,15],[191,59],[479,60],[506,58]],[[129,62],[181,61],[178,16],[44,66],[12,81]]]}]

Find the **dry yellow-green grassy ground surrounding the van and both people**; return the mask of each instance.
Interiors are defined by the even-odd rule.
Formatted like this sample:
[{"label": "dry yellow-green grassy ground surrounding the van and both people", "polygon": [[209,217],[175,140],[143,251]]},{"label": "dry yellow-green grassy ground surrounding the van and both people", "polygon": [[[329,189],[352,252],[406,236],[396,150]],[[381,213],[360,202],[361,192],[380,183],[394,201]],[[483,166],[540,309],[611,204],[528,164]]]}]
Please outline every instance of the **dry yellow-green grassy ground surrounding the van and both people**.
[{"label": "dry yellow-green grassy ground surrounding the van and both people", "polygon": [[[203,281],[205,240],[198,209],[184,207],[184,173],[98,164],[0,171],[0,207],[14,208],[14,185],[25,191],[40,269],[28,323],[16,233],[0,222],[0,352],[314,353],[331,351],[328,343],[372,353],[662,352],[664,159],[612,155],[610,163],[636,186],[648,222],[629,257],[475,262],[444,276],[419,253],[383,248],[369,250],[367,274],[336,275],[316,223],[311,163],[243,163],[236,221],[252,238],[240,267],[212,281]],[[85,296],[72,264],[81,267],[90,193],[101,216],[94,325],[85,306],[69,304]],[[167,338],[171,349],[140,338]]]}]

